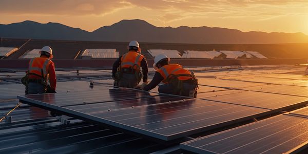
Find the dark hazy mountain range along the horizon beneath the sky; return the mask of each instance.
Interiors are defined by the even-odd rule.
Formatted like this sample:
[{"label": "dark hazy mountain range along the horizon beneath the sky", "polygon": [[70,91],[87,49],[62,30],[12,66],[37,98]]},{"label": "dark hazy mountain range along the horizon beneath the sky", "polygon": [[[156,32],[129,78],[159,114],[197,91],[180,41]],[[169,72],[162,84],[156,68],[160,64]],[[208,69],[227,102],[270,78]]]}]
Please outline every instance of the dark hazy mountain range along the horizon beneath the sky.
[{"label": "dark hazy mountain range along the horizon beneath the sky", "polygon": [[0,37],[34,38],[46,40],[129,42],[185,44],[279,44],[308,43],[308,35],[282,32],[242,32],[217,27],[156,27],[143,20],[122,20],[103,26],[93,32],[59,23],[41,24],[24,21],[0,24]]}]

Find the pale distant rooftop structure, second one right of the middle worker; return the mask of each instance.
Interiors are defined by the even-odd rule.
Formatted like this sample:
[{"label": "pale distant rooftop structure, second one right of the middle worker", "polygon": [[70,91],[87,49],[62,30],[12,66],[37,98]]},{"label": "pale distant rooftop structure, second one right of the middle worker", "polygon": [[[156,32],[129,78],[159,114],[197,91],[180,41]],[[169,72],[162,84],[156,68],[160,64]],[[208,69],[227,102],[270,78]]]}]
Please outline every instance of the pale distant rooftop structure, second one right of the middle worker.
[{"label": "pale distant rooftop structure, second one right of the middle worker", "polygon": [[213,60],[215,57],[221,55],[221,52],[217,51],[194,51],[194,50],[185,50],[182,58],[190,59],[190,58],[197,58],[197,59],[211,59]]}]

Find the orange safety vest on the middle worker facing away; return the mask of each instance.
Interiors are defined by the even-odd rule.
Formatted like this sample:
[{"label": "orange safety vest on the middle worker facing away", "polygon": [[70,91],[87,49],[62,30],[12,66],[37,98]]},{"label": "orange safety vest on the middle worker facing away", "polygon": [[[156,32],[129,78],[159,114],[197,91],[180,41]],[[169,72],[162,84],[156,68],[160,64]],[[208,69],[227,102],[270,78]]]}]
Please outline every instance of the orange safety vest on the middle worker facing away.
[{"label": "orange safety vest on the middle worker facing away", "polygon": [[137,71],[140,71],[140,65],[143,57],[144,56],[140,53],[128,51],[121,57],[121,68],[131,67],[133,69],[137,69]]}]

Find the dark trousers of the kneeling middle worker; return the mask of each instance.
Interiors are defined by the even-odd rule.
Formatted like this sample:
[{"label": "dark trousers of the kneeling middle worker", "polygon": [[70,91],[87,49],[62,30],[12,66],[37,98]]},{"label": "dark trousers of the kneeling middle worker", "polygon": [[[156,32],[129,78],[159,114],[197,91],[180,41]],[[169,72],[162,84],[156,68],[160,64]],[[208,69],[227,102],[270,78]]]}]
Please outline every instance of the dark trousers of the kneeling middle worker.
[{"label": "dark trousers of the kneeling middle worker", "polygon": [[139,84],[140,80],[137,79],[136,74],[123,73],[118,82],[119,87],[133,88]]}]

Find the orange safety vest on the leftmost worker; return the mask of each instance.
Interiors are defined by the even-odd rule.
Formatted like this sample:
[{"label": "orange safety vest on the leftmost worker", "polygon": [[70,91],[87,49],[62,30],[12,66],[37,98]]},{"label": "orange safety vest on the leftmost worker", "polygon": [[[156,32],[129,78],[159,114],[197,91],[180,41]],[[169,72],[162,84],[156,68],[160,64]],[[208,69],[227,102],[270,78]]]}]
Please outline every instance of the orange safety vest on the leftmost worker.
[{"label": "orange safety vest on the leftmost worker", "polygon": [[51,60],[45,57],[35,57],[29,62],[29,73],[34,73],[42,76],[43,69],[43,78],[49,74],[49,65],[53,63]]}]

